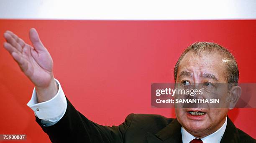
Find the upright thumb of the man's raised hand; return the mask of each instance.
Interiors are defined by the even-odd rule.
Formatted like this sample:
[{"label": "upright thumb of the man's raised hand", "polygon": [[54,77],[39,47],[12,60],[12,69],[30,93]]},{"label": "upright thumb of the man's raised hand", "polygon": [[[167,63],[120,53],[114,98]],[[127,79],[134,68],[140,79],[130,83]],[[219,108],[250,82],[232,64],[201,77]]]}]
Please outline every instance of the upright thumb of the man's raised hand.
[{"label": "upright thumb of the man's raised hand", "polygon": [[36,32],[35,28],[31,28],[29,30],[29,39],[33,44],[33,47],[36,51],[45,50],[43,43],[41,42],[38,33]]}]

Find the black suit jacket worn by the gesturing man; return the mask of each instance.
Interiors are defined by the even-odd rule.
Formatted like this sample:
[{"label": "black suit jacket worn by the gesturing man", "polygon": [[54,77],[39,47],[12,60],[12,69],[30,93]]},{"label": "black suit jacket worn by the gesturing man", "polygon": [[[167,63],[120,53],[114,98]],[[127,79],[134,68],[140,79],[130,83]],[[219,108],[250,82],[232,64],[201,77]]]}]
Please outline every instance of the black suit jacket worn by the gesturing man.
[{"label": "black suit jacket worn by the gesturing man", "polygon": [[[161,115],[130,114],[118,126],[103,126],[88,120],[67,100],[67,110],[56,124],[45,127],[52,143],[182,143],[177,119]],[[221,143],[255,143],[256,141],[228,118]],[[213,141],[214,143],[214,141]]]}]

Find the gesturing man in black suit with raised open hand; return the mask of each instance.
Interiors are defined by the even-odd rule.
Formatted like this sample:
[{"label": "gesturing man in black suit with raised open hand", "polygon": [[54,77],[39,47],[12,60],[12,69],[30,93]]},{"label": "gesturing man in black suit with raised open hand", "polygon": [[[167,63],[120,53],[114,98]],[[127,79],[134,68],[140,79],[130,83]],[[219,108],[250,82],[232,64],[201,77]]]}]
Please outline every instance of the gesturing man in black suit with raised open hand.
[{"label": "gesturing man in black suit with raised open hand", "polygon": [[53,143],[255,143],[235,127],[228,110],[241,95],[238,68],[233,55],[215,43],[194,43],[180,56],[174,68],[176,83],[215,83],[226,86],[229,108],[175,108],[177,119],[161,115],[130,114],[119,126],[102,126],[79,113],[54,79],[53,61],[35,29],[29,32],[33,47],[10,31],[4,47],[34,83],[28,106]]}]

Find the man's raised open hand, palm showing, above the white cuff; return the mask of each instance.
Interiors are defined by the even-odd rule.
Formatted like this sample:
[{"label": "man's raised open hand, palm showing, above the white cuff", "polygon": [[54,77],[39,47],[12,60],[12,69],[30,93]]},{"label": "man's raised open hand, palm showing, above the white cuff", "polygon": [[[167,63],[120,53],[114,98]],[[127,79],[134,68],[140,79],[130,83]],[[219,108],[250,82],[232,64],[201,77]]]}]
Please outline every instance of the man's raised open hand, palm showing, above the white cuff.
[{"label": "man's raised open hand, palm showing, above the white cuff", "polygon": [[8,50],[23,73],[36,86],[38,102],[51,99],[58,90],[54,81],[53,60],[41,43],[36,29],[32,28],[29,31],[33,47],[11,31],[6,31],[4,37],[7,41],[4,43],[4,48]]}]

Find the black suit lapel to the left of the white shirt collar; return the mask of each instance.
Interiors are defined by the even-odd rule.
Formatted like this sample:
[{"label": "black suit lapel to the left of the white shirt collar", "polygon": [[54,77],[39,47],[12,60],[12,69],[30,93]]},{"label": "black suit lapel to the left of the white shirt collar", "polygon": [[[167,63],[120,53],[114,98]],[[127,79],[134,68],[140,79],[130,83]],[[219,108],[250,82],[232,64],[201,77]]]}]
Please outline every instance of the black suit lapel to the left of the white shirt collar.
[{"label": "black suit lapel to the left of the white shirt collar", "polygon": [[181,125],[174,119],[155,135],[147,133],[148,143],[182,143]]}]

